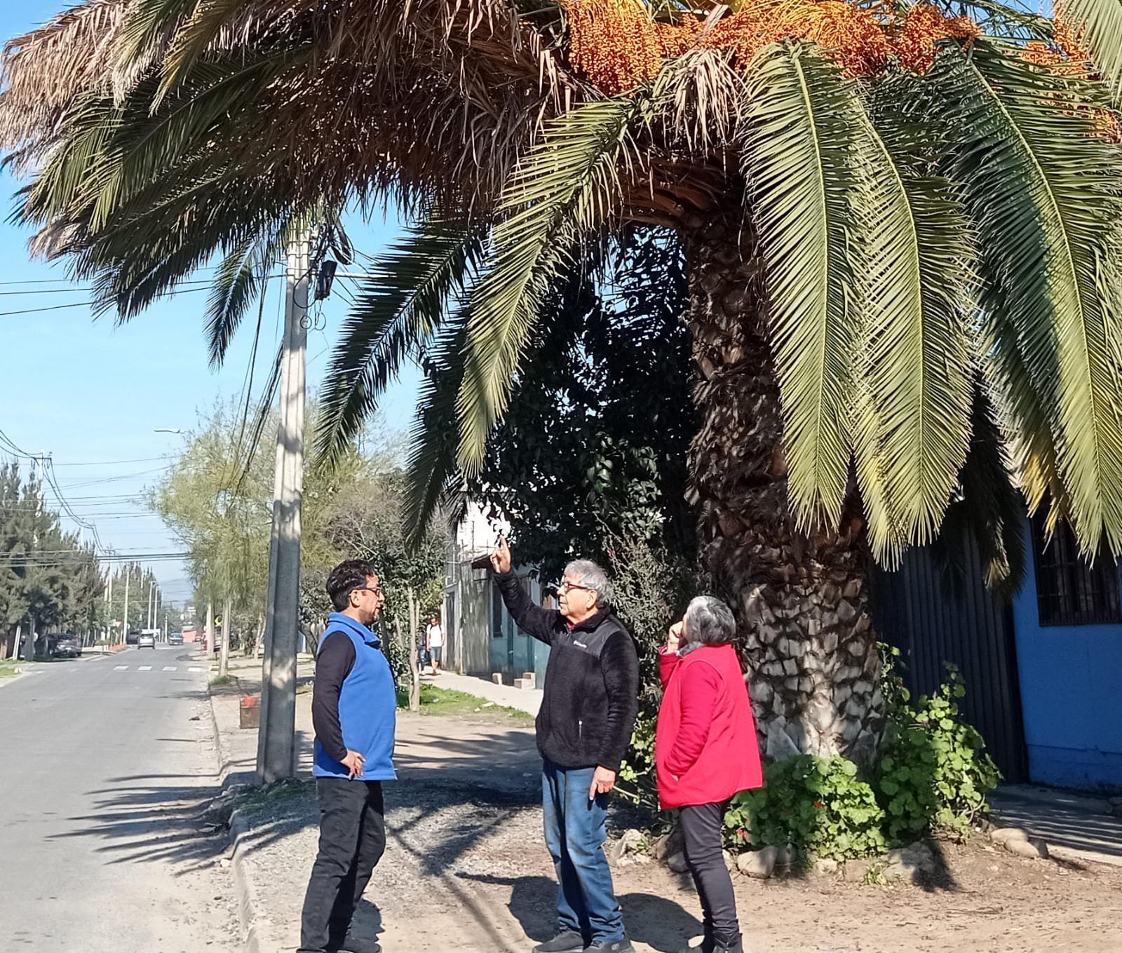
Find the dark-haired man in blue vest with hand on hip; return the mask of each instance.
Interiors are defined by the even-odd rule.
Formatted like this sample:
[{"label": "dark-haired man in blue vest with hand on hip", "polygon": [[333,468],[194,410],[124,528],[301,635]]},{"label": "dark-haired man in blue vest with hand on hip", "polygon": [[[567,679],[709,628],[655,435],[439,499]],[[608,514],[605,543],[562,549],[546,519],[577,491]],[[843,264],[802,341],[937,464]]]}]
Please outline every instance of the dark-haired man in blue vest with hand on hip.
[{"label": "dark-haired man in blue vest with hand on hip", "polygon": [[312,724],[320,852],[304,897],[298,953],[368,953],[351,917],[386,849],[381,782],[392,755],[397,697],[381,642],[369,626],[385,596],[369,562],[351,559],[328,576],[335,611],[315,654]]}]

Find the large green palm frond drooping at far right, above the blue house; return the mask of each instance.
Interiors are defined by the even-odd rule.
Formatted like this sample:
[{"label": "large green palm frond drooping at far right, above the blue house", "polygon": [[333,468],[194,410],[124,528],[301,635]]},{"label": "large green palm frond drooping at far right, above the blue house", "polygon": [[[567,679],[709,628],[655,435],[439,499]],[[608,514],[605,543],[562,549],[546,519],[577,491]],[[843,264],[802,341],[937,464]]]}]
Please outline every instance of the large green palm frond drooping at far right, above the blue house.
[{"label": "large green palm frond drooping at far right, above the blue house", "polygon": [[[1100,84],[1026,64],[990,43],[929,74],[980,235],[983,310],[1015,335],[1043,403],[1073,528],[1086,553],[1122,550],[1122,152],[1096,135]],[[1015,411],[1019,398],[1006,403]],[[1031,428],[1037,421],[1019,420]],[[1030,431],[1031,432],[1031,431]]]}]

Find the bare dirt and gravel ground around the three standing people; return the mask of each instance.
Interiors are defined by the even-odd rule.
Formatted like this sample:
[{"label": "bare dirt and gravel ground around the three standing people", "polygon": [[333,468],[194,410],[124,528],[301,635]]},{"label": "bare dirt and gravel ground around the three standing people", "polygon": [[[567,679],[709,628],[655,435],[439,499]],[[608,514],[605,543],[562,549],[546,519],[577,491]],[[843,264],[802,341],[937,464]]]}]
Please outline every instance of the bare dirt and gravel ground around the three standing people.
[{"label": "bare dirt and gravel ground around the three standing people", "polygon": [[[526,951],[552,935],[555,887],[542,842],[533,731],[502,717],[405,716],[403,778],[386,787],[386,855],[357,928],[385,953]],[[449,760],[445,760],[449,758]],[[277,950],[297,924],[315,854],[311,786],[248,813],[247,870]],[[1024,860],[977,837],[942,845],[927,889],[803,874],[736,876],[745,949],[772,953],[1122,951],[1122,868]],[[653,861],[615,870],[641,951],[700,933],[687,877]]]}]

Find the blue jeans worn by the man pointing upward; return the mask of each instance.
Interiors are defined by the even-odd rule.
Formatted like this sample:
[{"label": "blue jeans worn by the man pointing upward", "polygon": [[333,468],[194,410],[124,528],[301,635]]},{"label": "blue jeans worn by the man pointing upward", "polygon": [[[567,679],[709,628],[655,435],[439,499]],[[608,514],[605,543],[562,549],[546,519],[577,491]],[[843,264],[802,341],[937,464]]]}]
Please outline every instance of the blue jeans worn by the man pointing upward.
[{"label": "blue jeans worn by the man pointing upward", "polygon": [[624,915],[604,853],[608,796],[588,799],[594,770],[551,761],[542,766],[545,846],[558,872],[558,926],[579,933],[586,944],[624,938]]}]

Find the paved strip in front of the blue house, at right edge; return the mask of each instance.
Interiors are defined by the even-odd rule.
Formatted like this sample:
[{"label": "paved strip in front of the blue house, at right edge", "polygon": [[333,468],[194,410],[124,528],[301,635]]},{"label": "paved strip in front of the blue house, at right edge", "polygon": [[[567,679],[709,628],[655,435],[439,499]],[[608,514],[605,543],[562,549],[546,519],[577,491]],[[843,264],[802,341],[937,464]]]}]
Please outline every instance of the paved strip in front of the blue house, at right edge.
[{"label": "paved strip in front of the blue house, at right edge", "polygon": [[1122,867],[1122,817],[1109,800],[1036,785],[1006,785],[988,800],[1001,826],[1043,837],[1052,856]]}]

